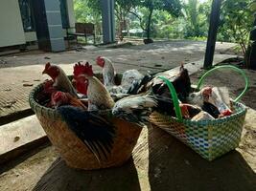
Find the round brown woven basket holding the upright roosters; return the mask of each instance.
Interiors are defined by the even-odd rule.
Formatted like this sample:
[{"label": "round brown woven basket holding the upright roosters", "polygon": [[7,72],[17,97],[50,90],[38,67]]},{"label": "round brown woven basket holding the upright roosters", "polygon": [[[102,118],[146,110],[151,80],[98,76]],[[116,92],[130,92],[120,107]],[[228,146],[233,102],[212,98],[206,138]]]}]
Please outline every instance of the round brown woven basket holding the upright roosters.
[{"label": "round brown woven basket holding the upright roosters", "polygon": [[99,115],[105,117],[115,126],[116,135],[107,159],[99,161],[87,149],[81,139],[69,129],[57,110],[44,107],[35,101],[36,95],[41,91],[42,84],[36,86],[31,92],[29,97],[31,108],[47,137],[68,166],[84,170],[101,169],[120,166],[130,158],[142,130],[140,126],[112,117],[111,111],[102,111]]}]

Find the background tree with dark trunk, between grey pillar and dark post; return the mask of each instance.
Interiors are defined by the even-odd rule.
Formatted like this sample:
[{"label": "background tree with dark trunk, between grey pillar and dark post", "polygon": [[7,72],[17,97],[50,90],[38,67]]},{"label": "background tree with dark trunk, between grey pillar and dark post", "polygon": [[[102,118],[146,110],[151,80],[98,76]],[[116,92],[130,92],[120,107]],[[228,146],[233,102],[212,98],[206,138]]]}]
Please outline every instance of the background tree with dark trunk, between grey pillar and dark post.
[{"label": "background tree with dark trunk, between grey pillar and dark post", "polygon": [[[140,13],[136,10],[136,7],[130,13],[135,15],[141,24],[142,30],[147,33],[147,39],[144,41],[145,43],[151,43],[151,18],[153,11],[167,11],[172,16],[179,16],[181,12],[181,4],[179,0],[144,0],[138,2],[138,7],[145,8],[147,10],[146,19],[140,15]],[[145,16],[145,14],[144,14]]]}]

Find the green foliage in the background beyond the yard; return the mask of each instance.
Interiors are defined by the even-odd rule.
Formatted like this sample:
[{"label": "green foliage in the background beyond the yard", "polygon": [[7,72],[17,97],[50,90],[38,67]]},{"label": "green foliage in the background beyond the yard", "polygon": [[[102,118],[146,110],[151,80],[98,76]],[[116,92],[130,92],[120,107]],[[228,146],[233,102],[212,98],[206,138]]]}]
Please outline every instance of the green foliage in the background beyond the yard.
[{"label": "green foliage in the background beyond the yard", "polygon": [[[96,24],[101,33],[101,1],[74,0],[78,22]],[[237,42],[244,54],[252,30],[255,0],[222,0],[221,28],[218,40]],[[212,0],[115,0],[116,28],[123,39],[122,31],[144,30],[147,37],[188,38],[205,40],[209,28]],[[250,8],[250,9],[248,9]],[[250,11],[251,10],[251,11]],[[256,22],[256,21],[255,21]],[[140,33],[141,36],[141,33]]]}]

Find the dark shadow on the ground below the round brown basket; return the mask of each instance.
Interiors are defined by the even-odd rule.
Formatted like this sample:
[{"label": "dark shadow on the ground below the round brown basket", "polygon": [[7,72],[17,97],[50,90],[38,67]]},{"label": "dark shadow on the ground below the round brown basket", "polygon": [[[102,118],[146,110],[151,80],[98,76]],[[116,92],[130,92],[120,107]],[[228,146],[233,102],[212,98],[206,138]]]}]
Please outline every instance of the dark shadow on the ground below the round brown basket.
[{"label": "dark shadow on the ground below the round brown basket", "polygon": [[82,171],[69,168],[62,159],[57,159],[42,178],[34,191],[81,191],[81,190],[132,190],[140,191],[140,184],[133,160],[117,168]]}]

